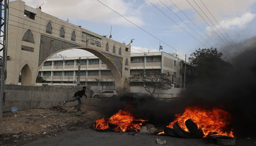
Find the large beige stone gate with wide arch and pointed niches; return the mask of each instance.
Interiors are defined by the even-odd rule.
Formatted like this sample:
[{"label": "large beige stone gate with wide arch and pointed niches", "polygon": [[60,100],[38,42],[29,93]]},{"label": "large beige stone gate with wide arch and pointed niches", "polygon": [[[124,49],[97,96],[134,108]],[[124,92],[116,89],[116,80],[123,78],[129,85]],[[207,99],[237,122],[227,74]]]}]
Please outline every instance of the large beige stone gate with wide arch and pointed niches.
[{"label": "large beige stone gate with wide arch and pointed niches", "polygon": [[[127,88],[131,46],[103,37],[32,8],[23,1],[9,3],[6,84],[35,85],[41,66],[53,54],[83,49],[101,59],[111,70],[116,90]],[[116,50],[118,48],[118,51]]]}]

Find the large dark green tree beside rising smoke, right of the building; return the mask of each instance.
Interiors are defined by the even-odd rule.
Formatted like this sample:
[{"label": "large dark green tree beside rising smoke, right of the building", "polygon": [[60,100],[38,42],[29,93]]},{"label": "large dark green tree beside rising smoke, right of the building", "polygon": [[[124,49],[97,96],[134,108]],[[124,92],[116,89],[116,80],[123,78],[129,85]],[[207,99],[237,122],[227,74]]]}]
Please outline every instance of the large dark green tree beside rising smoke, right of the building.
[{"label": "large dark green tree beside rising smoke, right of the building", "polygon": [[[217,48],[198,49],[189,57],[190,64],[194,67],[194,79],[203,85],[216,86],[215,81],[225,78],[233,65],[222,59],[222,53]],[[186,69],[187,70],[187,69]]]}]

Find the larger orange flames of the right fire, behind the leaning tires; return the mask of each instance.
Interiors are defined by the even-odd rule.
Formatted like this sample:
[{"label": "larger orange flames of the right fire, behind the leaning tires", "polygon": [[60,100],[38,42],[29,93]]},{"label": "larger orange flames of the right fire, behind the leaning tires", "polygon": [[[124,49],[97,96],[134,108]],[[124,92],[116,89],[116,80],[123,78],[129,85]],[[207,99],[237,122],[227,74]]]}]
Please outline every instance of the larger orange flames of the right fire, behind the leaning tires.
[{"label": "larger orange flames of the right fire, behind the leaning tires", "polygon": [[206,111],[200,107],[187,107],[183,114],[176,114],[175,117],[176,119],[166,127],[173,128],[174,123],[178,121],[179,126],[188,131],[185,121],[192,119],[197,124],[197,127],[203,131],[204,137],[212,134],[234,137],[233,131],[223,132],[231,119],[231,116],[226,111],[217,108]]}]

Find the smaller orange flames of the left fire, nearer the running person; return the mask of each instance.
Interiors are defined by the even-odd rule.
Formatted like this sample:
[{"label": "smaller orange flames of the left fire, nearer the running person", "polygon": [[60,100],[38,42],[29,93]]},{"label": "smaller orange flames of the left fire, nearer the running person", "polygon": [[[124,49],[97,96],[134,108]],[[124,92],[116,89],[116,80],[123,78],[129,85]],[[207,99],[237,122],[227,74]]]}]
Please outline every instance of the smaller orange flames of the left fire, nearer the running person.
[{"label": "smaller orange flames of the left fire, nearer the running person", "polygon": [[110,123],[116,125],[113,130],[118,132],[125,132],[127,130],[138,131],[142,123],[146,121],[147,120],[143,119],[135,119],[131,113],[120,110],[117,114],[111,116],[108,121],[104,118],[96,120],[93,127],[97,130],[104,130],[109,128],[108,123]]}]

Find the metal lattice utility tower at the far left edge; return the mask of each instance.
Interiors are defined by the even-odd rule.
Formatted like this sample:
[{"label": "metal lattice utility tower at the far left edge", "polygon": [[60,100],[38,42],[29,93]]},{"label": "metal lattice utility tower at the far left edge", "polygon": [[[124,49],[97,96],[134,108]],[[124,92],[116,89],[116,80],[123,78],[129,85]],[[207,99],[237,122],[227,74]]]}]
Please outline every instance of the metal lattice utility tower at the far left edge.
[{"label": "metal lattice utility tower at the far left edge", "polygon": [[[8,0],[9,1],[9,0]],[[0,119],[3,117],[3,105],[5,97],[5,80],[6,80],[6,52],[7,52],[7,11],[8,5],[7,0],[0,0],[0,45],[3,46],[0,49],[0,52],[3,53],[3,56],[0,55]],[[4,12],[4,15],[2,15]],[[4,20],[4,21],[2,21]]]}]

